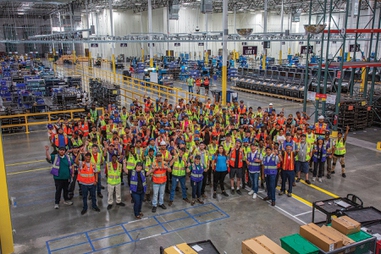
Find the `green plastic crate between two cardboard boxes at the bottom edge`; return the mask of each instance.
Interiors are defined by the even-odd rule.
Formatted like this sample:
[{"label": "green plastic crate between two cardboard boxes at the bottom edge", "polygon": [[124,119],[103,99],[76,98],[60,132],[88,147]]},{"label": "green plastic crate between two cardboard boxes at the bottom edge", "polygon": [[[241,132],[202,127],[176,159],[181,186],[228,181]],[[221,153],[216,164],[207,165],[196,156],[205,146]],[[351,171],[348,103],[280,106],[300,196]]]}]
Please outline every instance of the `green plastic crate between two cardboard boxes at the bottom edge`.
[{"label": "green plastic crate between two cardboard boxes at the bottom edge", "polygon": [[319,248],[299,234],[289,235],[280,239],[281,246],[290,254],[318,254]]}]

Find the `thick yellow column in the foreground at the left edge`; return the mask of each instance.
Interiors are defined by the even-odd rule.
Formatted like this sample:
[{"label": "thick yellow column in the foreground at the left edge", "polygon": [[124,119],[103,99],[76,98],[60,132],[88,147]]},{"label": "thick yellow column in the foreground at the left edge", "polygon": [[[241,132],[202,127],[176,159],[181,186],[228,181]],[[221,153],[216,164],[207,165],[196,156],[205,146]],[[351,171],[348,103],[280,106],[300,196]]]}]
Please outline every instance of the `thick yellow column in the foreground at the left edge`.
[{"label": "thick yellow column in the foreground at the left edge", "polygon": [[13,232],[11,211],[7,186],[7,174],[5,171],[3,136],[0,132],[0,245],[1,253],[13,253]]}]

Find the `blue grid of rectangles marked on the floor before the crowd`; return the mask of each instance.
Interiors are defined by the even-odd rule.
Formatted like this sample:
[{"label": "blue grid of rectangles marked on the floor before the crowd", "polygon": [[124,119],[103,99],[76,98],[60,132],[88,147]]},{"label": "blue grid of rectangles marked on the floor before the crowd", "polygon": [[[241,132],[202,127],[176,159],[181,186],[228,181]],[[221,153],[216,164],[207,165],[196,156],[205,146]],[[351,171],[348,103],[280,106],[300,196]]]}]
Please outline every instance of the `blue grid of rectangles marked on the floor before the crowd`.
[{"label": "blue grid of rectangles marked on the floor before the crowd", "polygon": [[[202,207],[206,207],[209,210],[208,211],[199,212],[199,213],[196,213],[196,214],[191,214],[189,212],[190,210],[197,209],[197,208],[202,208]],[[169,220],[169,221],[165,221],[165,222],[160,222],[159,219],[158,219],[160,217],[162,218],[162,216],[169,215],[169,214],[174,214],[174,213],[178,213],[178,212],[184,212],[188,216],[177,218],[177,219],[173,219],[173,220]],[[196,219],[196,217],[201,217],[201,216],[203,216],[205,214],[210,214],[210,213],[214,213],[214,212],[218,212],[219,215],[222,215],[222,217],[214,218],[214,219],[211,219],[211,220],[205,220],[203,222],[201,222],[198,219]],[[125,244],[129,244],[129,243],[134,243],[134,242],[140,241],[139,237],[137,237],[136,239],[132,238],[132,236],[130,234],[132,232],[137,232],[137,231],[140,231],[140,230],[145,230],[145,229],[149,229],[149,228],[160,226],[162,228],[163,232],[158,233],[158,235],[165,235],[165,234],[169,234],[169,233],[172,233],[172,232],[175,232],[175,231],[184,230],[184,229],[187,229],[187,228],[192,228],[192,227],[195,227],[195,226],[203,225],[203,224],[206,224],[206,223],[210,223],[210,222],[214,222],[214,221],[218,221],[218,220],[222,220],[222,219],[227,219],[229,217],[230,216],[226,212],[221,210],[215,204],[213,204],[213,203],[206,203],[206,204],[202,204],[202,205],[198,205],[198,206],[192,206],[192,207],[188,207],[188,208],[184,208],[184,209],[180,209],[180,210],[175,210],[175,211],[172,211],[172,212],[166,212],[166,213],[163,213],[163,214],[157,214],[157,215],[153,215],[151,217],[147,217],[147,219],[150,219],[150,218],[154,219],[154,221],[156,221],[157,224],[153,224],[153,225],[149,225],[149,226],[145,226],[145,227],[139,227],[139,228],[135,228],[135,229],[132,229],[132,230],[127,230],[124,225],[128,225],[130,222],[124,222],[124,223],[119,223],[119,224],[116,224],[116,225],[111,225],[111,226],[107,226],[107,227],[92,229],[92,230],[89,230],[89,231],[85,231],[85,232],[81,232],[81,233],[75,233],[75,234],[67,235],[67,236],[64,236],[64,237],[48,240],[48,241],[46,241],[46,248],[48,250],[48,253],[51,254],[52,252],[62,251],[62,250],[73,248],[73,247],[80,246],[80,245],[83,245],[83,244],[89,244],[91,249],[92,249],[92,251],[90,251],[88,253],[95,253],[95,252],[100,252],[100,251],[104,251],[104,250],[107,250],[107,249],[115,248],[115,247],[118,247],[118,246],[121,246],[121,245],[125,245]],[[181,220],[186,220],[186,219],[189,219],[189,218],[191,218],[194,221],[195,224],[188,225],[188,226],[181,227],[181,228],[176,228],[176,229],[170,229],[170,228],[168,228],[169,223],[176,222],[176,221],[181,221]],[[138,223],[139,221],[131,221],[131,222]],[[101,231],[101,230],[104,230],[104,229],[107,229],[107,228],[118,227],[118,226],[122,227],[124,232],[117,233],[117,234],[112,234],[112,235],[108,235],[108,236],[104,236],[104,237],[99,237],[99,238],[96,238],[94,240],[90,239],[89,233],[96,232],[96,231]],[[112,246],[108,246],[108,247],[104,247],[104,248],[101,247],[99,249],[96,249],[94,247],[94,245],[93,245],[93,242],[100,241],[102,239],[107,239],[107,238],[114,237],[114,236],[124,235],[124,234],[126,234],[129,237],[129,240],[126,241],[126,242],[120,242],[120,243],[114,244]],[[81,243],[77,243],[77,244],[71,244],[71,245],[60,247],[58,249],[53,249],[53,250],[50,248],[50,244],[51,243],[54,243],[54,242],[57,242],[57,241],[62,241],[62,240],[65,240],[65,239],[68,239],[68,238],[72,238],[72,237],[76,237],[78,235],[85,235],[86,238],[87,238],[87,242],[81,242]],[[138,236],[139,236],[139,234],[138,234]],[[152,235],[152,236],[155,236],[155,235]],[[144,236],[143,238],[152,237],[152,236]],[[68,240],[68,243],[70,244],[70,240]]]}]

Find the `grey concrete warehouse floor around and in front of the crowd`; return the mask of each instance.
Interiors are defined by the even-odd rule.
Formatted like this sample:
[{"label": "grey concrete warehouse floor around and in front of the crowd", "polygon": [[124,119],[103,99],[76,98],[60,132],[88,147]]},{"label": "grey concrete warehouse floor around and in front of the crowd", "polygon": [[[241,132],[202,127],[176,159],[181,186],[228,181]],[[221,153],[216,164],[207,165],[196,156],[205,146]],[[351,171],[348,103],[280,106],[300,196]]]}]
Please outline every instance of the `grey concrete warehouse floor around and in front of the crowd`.
[{"label": "grey concrete warehouse floor around and in front of the crowd", "polygon": [[[273,102],[276,108],[285,108],[286,113],[302,107],[258,95],[239,93],[239,98],[255,107]],[[311,107],[308,112],[312,112]],[[330,193],[353,193],[362,198],[365,206],[381,209],[381,196],[374,195],[379,193],[381,181],[381,152],[375,149],[380,134],[380,128],[350,133],[347,178],[335,174],[331,180],[315,183],[328,192],[299,183],[295,197],[314,202],[331,198]],[[100,213],[89,210],[81,216],[82,200],[76,190],[73,206],[61,205],[54,210],[54,182],[44,156],[46,132],[35,127],[29,135],[9,134],[3,138],[16,253],[159,253],[160,246],[210,239],[221,253],[233,254],[240,253],[242,240],[265,234],[280,244],[280,237],[297,233],[299,225],[311,222],[312,209],[296,198],[277,196],[277,206],[271,207],[260,198],[253,200],[246,191],[242,196],[218,195],[212,199],[210,187],[205,205],[191,207],[181,200],[180,192],[172,207],[158,208],[156,214],[151,212],[151,204],[144,203],[141,221],[135,221],[127,187],[122,187],[126,207],[114,206],[107,211],[104,197],[97,201]],[[339,167],[336,172],[340,173]],[[166,194],[165,202],[168,200]]]}]

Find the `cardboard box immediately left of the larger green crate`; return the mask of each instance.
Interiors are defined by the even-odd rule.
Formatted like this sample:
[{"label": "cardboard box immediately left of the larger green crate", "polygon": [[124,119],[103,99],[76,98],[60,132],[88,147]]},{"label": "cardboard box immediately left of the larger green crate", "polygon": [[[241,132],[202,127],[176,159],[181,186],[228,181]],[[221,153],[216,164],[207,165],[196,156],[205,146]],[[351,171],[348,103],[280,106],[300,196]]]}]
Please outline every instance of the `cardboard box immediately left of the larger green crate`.
[{"label": "cardboard box immediately left of the larger green crate", "polygon": [[248,239],[242,242],[242,253],[244,254],[289,254],[278,244],[265,235]]}]

